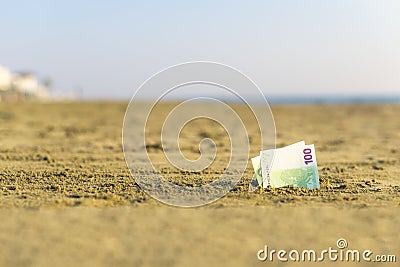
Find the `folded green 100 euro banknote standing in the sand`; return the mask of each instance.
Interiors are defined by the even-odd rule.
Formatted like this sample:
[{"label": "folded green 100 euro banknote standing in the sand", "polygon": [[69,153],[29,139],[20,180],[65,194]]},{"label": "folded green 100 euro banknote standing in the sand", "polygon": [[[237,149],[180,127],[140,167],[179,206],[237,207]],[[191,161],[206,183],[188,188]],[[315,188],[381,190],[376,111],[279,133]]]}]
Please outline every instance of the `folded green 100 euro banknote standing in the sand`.
[{"label": "folded green 100 euro banknote standing in the sand", "polygon": [[252,163],[255,177],[261,187],[294,185],[310,189],[319,188],[315,147],[305,145],[304,141],[283,148],[261,151],[260,156],[252,158]]}]

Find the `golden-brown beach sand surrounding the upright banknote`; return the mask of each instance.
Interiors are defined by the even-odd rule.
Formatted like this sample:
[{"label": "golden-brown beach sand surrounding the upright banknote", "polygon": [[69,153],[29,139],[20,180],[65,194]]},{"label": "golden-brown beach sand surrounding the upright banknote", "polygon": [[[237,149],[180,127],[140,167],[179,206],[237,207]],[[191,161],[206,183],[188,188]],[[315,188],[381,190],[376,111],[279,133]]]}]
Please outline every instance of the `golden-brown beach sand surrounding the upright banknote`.
[{"label": "golden-brown beach sand surrounding the upright banknote", "polygon": [[[321,188],[251,193],[248,164],[232,192],[193,209],[153,200],[131,177],[121,145],[126,105],[0,103],[0,266],[279,266],[259,262],[257,251],[318,249],[341,237],[400,257],[399,105],[272,106],[277,147],[315,144]],[[228,142],[210,126],[188,126],[182,147],[195,158],[198,141],[213,138],[225,148],[216,165],[196,177],[169,171],[169,180],[218,176]],[[254,156],[259,132],[251,119],[247,126]],[[151,127],[150,156],[171,168]]]}]

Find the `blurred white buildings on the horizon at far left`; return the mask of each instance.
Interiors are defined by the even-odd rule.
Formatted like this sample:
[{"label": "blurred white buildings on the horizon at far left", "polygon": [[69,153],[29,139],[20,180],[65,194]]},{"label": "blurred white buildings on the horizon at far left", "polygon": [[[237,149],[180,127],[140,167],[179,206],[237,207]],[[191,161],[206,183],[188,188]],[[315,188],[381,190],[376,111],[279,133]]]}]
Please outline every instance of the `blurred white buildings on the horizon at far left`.
[{"label": "blurred white buildings on the horizon at far left", "polygon": [[[45,100],[49,98],[48,89],[39,83],[37,77],[30,72],[11,73],[0,66],[0,90],[19,98]],[[0,96],[1,99],[1,96]]]}]

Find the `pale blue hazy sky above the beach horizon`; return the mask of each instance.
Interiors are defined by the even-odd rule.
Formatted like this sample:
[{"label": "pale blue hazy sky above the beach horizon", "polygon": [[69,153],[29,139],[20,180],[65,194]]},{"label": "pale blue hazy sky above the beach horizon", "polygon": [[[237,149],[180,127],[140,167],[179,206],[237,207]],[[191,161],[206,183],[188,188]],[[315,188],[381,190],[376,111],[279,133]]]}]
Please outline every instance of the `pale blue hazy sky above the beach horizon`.
[{"label": "pale blue hazy sky above the beach horizon", "polygon": [[267,95],[400,93],[396,0],[17,0],[0,10],[0,65],[85,98],[130,98],[193,60],[231,65]]}]

